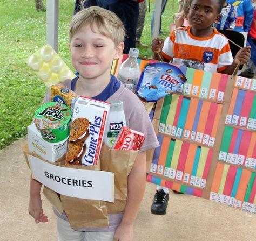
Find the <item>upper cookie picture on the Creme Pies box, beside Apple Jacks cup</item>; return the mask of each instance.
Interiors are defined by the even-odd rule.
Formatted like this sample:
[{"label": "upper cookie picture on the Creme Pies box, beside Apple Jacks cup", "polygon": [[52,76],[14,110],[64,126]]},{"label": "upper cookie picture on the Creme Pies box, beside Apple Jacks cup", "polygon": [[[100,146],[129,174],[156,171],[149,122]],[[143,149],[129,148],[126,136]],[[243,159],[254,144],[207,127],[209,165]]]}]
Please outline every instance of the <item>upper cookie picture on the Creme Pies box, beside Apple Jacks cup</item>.
[{"label": "upper cookie picture on the Creme Pies box, beside Apple Jacks cup", "polygon": [[82,143],[89,136],[90,122],[86,118],[77,118],[71,124],[69,142]]}]

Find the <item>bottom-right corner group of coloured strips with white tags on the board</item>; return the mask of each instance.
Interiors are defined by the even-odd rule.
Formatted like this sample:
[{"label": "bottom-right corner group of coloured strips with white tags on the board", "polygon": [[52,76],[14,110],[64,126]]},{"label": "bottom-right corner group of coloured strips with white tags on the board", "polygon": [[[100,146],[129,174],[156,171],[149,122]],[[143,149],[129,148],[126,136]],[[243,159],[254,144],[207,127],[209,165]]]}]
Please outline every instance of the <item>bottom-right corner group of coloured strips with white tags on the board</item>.
[{"label": "bottom-right corner group of coloured strips with white tags on the board", "polygon": [[256,173],[247,169],[218,162],[210,200],[255,212],[255,176]]}]

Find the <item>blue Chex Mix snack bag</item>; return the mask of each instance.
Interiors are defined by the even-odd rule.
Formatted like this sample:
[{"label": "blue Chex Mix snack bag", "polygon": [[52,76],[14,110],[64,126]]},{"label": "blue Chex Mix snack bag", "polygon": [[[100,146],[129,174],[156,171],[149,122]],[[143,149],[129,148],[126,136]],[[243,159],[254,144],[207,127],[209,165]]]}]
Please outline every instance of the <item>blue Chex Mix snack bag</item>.
[{"label": "blue Chex Mix snack bag", "polygon": [[176,66],[169,63],[149,63],[140,75],[137,94],[147,102],[156,102],[177,91],[186,81],[185,75]]}]

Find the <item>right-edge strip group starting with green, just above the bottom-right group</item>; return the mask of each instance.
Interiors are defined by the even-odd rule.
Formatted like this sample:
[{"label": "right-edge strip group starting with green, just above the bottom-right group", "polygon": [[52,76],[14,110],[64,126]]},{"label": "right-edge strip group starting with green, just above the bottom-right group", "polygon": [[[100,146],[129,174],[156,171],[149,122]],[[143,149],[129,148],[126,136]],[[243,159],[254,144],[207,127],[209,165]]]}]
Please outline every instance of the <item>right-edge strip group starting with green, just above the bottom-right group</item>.
[{"label": "right-edge strip group starting with green, just above the bottom-right group", "polygon": [[256,168],[256,132],[225,126],[219,160]]}]

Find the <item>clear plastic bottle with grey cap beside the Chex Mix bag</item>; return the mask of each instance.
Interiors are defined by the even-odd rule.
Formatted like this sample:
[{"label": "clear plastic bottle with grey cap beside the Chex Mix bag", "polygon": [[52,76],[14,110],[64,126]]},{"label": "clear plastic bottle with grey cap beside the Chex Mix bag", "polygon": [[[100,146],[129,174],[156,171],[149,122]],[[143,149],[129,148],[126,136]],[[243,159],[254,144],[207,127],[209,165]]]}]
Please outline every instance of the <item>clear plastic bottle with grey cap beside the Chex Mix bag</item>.
[{"label": "clear plastic bottle with grey cap beside the Chex Mix bag", "polygon": [[138,56],[139,49],[130,48],[129,58],[122,63],[117,75],[117,79],[132,91],[136,91],[140,77],[140,67],[137,60]]}]

